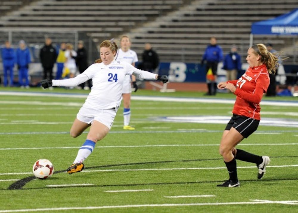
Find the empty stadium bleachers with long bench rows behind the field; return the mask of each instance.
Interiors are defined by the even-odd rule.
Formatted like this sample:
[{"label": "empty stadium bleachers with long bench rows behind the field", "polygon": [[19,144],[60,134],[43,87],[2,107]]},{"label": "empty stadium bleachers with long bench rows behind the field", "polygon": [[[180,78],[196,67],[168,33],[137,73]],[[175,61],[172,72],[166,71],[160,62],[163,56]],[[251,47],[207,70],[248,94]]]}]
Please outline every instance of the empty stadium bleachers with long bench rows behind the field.
[{"label": "empty stadium bleachers with long bench rows behind the field", "polygon": [[[149,42],[164,62],[199,62],[210,36],[217,37],[224,53],[236,44],[245,61],[252,22],[298,6],[296,0],[14,0],[0,4],[8,10],[0,18],[2,44],[8,32],[13,43],[24,39],[35,47],[43,44],[45,35],[54,43],[80,39],[92,47],[93,60],[100,41],[128,34],[138,55]],[[270,42],[277,50],[293,46],[287,36],[255,36],[254,43],[260,42]]]}]

